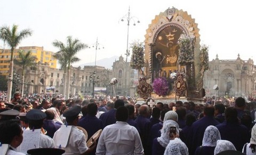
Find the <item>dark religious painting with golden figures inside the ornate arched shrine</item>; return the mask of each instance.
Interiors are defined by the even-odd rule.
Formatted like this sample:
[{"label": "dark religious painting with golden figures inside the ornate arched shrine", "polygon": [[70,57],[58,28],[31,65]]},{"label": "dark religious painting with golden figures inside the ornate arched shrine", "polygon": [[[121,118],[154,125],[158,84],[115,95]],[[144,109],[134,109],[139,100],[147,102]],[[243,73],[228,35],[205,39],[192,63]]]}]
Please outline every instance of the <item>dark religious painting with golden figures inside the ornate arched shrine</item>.
[{"label": "dark religious painting with golden figures inside the ornate arched shrine", "polygon": [[165,70],[177,70],[179,57],[178,39],[183,33],[177,24],[170,24],[159,31],[153,46],[153,72],[157,75]]}]

